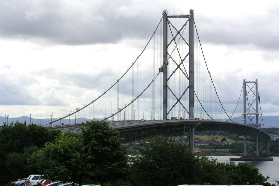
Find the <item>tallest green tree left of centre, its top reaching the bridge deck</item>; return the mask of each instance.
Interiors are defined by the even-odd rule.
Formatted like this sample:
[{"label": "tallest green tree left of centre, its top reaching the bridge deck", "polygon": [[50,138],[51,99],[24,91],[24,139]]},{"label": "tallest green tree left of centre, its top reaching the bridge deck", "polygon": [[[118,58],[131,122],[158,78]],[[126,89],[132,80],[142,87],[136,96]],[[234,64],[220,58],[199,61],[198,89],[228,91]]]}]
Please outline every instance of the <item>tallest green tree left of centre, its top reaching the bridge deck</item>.
[{"label": "tallest green tree left of centre, its top reaching the bridge deck", "polygon": [[110,128],[107,122],[99,121],[88,122],[81,130],[88,178],[101,185],[116,185],[125,180],[128,156],[119,132]]}]

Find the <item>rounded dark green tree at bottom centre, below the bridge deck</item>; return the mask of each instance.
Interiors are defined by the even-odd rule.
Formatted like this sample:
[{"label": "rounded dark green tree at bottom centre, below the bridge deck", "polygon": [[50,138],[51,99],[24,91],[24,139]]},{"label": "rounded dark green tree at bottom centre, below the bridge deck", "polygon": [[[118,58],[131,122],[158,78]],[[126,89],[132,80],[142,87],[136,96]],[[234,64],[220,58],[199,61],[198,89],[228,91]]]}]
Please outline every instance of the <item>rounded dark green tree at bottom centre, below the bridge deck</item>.
[{"label": "rounded dark green tree at bottom centre, below the bridge deck", "polygon": [[194,183],[195,156],[186,144],[154,137],[138,149],[131,160],[133,185],[179,185]]}]

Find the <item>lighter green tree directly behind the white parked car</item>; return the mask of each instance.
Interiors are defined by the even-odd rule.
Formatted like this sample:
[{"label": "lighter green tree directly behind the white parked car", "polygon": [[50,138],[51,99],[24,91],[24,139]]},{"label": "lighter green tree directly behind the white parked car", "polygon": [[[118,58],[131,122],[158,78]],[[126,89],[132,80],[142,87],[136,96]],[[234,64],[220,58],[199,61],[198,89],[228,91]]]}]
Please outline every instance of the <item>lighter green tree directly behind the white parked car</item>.
[{"label": "lighter green tree directly behind the white parked car", "polygon": [[84,144],[80,134],[63,133],[28,158],[28,166],[52,180],[79,183],[85,169]]}]

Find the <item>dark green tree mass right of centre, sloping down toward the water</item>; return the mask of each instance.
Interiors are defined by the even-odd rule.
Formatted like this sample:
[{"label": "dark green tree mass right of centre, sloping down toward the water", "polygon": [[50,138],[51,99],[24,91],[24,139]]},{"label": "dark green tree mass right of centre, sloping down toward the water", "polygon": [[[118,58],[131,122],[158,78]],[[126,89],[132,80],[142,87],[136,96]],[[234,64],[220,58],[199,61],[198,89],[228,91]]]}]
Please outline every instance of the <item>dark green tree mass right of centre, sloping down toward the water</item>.
[{"label": "dark green tree mass right of centre, sloping down toward the water", "polygon": [[131,160],[132,185],[270,185],[257,168],[246,163],[221,163],[206,156],[194,157],[185,144],[155,137]]}]

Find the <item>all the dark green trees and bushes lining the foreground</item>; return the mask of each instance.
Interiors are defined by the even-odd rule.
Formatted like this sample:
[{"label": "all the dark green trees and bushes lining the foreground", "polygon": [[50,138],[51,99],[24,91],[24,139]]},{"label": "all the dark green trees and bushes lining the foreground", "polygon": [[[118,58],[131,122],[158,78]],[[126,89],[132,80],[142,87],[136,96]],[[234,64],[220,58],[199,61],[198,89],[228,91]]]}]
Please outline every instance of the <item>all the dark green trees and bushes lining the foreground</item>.
[{"label": "all the dark green trees and bushes lining the foreground", "polygon": [[[213,140],[239,140],[218,136]],[[80,185],[271,185],[268,177],[248,164],[194,156],[186,138],[156,136],[142,142],[133,147],[135,155],[128,156],[119,132],[106,122],[88,122],[76,134],[34,124],[4,124],[0,126],[0,180],[7,185],[38,173]]]}]

